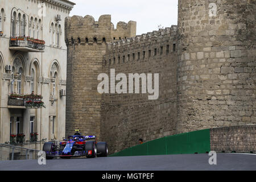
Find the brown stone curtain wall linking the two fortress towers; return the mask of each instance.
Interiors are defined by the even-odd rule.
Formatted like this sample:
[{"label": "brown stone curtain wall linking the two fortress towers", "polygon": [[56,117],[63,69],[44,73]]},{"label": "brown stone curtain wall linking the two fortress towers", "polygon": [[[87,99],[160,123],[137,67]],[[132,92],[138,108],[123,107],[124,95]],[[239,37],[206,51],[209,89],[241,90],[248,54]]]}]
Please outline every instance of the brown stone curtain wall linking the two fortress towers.
[{"label": "brown stone curtain wall linking the two fortress towers", "polygon": [[[176,133],[176,26],[109,43],[104,56],[104,73],[159,73],[159,98],[148,94],[103,94],[101,135],[117,152],[138,143]],[[156,50],[156,51],[155,51]],[[116,81],[117,83],[118,81]],[[128,86],[127,80],[127,88]]]}]

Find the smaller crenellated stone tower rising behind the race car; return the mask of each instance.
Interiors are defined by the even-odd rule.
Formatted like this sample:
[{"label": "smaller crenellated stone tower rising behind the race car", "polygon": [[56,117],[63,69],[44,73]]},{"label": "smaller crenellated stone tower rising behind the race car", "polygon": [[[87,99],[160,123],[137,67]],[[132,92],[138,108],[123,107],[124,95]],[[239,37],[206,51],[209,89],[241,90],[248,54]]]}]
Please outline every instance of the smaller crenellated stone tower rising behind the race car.
[{"label": "smaller crenellated stone tower rising behind the race car", "polygon": [[101,94],[97,76],[102,73],[106,43],[136,35],[136,22],[119,22],[117,28],[110,15],[72,16],[65,19],[67,61],[66,135],[80,129],[82,134],[100,137]]}]

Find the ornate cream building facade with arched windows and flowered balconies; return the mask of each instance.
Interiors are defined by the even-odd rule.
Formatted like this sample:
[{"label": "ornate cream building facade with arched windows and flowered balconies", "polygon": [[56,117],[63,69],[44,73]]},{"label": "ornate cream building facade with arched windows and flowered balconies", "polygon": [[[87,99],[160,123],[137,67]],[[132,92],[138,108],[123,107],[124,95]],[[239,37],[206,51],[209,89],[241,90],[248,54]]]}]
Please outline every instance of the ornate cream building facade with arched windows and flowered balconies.
[{"label": "ornate cream building facade with arched windows and flowered balconies", "polygon": [[74,5],[0,0],[0,143],[65,137],[64,19]]}]

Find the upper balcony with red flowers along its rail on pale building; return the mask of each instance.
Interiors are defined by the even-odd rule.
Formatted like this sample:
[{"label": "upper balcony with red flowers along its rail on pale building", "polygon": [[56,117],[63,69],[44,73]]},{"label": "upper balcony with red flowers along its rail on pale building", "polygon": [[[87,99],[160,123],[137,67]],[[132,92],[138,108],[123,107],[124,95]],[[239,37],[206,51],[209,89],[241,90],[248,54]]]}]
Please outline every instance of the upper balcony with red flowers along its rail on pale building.
[{"label": "upper balcony with red flowers along its rail on pale building", "polygon": [[9,49],[23,52],[44,52],[44,40],[32,39],[26,36],[10,37]]}]

